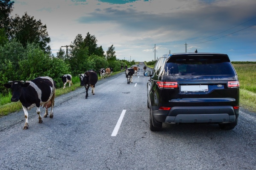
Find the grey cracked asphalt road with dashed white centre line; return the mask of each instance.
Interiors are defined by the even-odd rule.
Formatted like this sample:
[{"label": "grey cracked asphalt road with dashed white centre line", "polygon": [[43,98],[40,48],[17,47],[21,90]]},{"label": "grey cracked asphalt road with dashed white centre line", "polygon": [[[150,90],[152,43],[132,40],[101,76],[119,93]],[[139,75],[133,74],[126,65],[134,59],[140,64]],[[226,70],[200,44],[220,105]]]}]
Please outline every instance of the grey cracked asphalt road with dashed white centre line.
[{"label": "grey cracked asphalt road with dashed white centre line", "polygon": [[83,87],[59,96],[42,124],[29,111],[27,130],[22,110],[0,118],[0,170],[256,169],[256,113],[241,108],[233,130],[164,124],[151,132],[147,81],[142,69],[132,84],[122,72],[98,81],[88,99]]}]

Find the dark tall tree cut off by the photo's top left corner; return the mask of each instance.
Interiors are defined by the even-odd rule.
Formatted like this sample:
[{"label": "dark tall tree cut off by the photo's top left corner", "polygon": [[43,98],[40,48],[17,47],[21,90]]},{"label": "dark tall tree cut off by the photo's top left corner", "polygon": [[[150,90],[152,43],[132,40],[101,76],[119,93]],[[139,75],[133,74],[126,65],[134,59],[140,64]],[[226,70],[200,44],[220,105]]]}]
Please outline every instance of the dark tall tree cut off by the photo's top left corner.
[{"label": "dark tall tree cut off by the photo's top left corner", "polygon": [[6,33],[10,31],[11,18],[9,15],[12,13],[13,3],[14,1],[10,0],[0,0],[0,29],[4,28]]}]

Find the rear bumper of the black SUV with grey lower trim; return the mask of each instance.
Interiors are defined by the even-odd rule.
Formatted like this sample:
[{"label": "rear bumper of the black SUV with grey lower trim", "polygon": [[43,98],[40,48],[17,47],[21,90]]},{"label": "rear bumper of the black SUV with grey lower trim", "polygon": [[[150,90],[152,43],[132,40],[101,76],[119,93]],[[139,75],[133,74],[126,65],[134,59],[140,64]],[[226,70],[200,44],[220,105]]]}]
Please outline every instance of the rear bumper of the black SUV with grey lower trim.
[{"label": "rear bumper of the black SUV with grey lower trim", "polygon": [[172,107],[169,111],[153,110],[153,117],[162,123],[222,123],[238,118],[239,109],[232,106]]}]

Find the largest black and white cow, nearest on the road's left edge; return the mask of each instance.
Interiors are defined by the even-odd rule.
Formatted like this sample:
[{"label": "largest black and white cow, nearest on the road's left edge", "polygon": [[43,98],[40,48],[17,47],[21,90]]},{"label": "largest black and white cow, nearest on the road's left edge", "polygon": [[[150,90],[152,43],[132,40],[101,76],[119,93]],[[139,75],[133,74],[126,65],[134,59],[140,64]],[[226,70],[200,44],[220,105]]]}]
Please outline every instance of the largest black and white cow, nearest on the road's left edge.
[{"label": "largest black and white cow, nearest on the road's left edge", "polygon": [[42,123],[40,107],[45,107],[44,118],[48,115],[48,108],[51,108],[50,118],[53,118],[53,106],[55,98],[55,81],[50,77],[38,77],[31,81],[9,81],[11,84],[4,84],[6,88],[11,88],[11,101],[21,101],[25,114],[25,125],[23,129],[29,128],[28,110],[36,106],[39,123]]}]

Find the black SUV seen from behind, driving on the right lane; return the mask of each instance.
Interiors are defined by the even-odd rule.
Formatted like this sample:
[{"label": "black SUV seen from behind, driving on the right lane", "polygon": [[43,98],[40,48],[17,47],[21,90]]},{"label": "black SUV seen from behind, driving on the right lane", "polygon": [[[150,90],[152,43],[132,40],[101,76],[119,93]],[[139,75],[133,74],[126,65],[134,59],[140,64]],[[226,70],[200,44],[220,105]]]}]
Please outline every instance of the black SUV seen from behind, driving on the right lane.
[{"label": "black SUV seen from behind, driving on the right lane", "polygon": [[239,81],[228,55],[163,55],[144,76],[150,77],[150,130],[160,130],[162,123],[218,123],[225,130],[237,125]]}]

